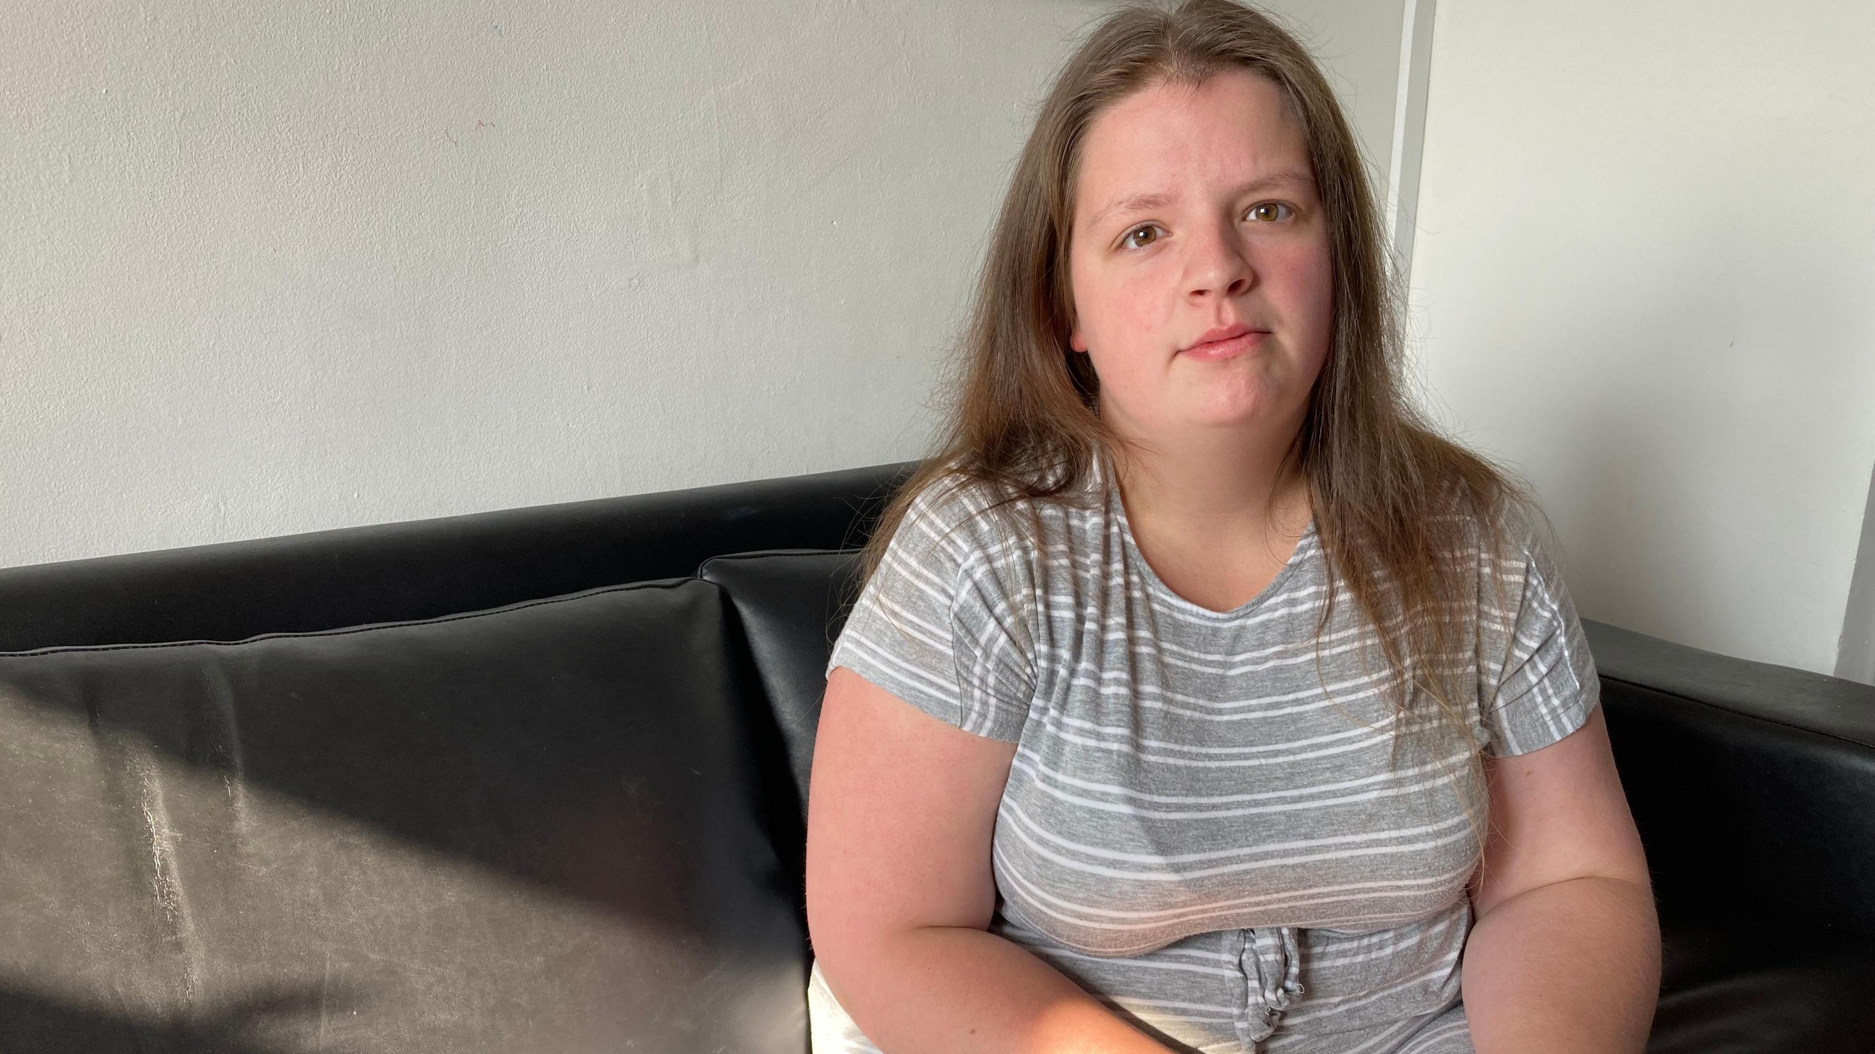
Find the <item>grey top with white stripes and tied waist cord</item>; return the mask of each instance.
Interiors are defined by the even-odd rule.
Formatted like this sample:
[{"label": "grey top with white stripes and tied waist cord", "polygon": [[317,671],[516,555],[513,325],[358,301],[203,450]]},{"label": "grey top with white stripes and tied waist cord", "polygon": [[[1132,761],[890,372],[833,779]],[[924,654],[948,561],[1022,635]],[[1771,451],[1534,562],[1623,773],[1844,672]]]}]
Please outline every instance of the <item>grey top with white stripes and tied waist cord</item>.
[{"label": "grey top with white stripes and tied waist cord", "polygon": [[[827,662],[1018,745],[990,932],[1174,1050],[1470,1050],[1466,745],[1389,763],[1393,707],[1344,587],[1314,638],[1312,523],[1258,596],[1211,611],[1146,565],[1110,480],[1099,465],[1086,508],[1035,503],[1039,536],[973,516],[979,484],[926,489]],[[1449,656],[1476,671],[1491,756],[1575,731],[1599,690],[1552,563],[1528,523],[1511,536],[1474,550],[1478,632]],[[818,962],[808,1011],[816,1054],[878,1050]]]}]

